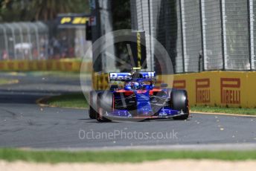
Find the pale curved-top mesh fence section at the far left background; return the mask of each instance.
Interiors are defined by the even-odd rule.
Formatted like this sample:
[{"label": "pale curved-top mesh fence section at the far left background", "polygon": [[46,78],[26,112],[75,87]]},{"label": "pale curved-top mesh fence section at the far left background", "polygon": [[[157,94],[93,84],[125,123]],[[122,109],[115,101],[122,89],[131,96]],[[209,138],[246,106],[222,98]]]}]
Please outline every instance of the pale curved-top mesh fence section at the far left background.
[{"label": "pale curved-top mesh fence section at the far left background", "polygon": [[0,59],[48,59],[48,27],[42,22],[0,24]]}]

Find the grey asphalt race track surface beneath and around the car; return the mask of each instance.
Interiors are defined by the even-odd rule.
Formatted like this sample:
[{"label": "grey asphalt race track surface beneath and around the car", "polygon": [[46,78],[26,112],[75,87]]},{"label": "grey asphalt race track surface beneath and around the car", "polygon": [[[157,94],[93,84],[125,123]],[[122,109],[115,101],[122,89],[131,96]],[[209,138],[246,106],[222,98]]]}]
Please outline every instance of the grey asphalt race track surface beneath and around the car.
[{"label": "grey asphalt race track surface beneath and around the car", "polygon": [[[256,146],[256,117],[192,114],[189,120],[97,123],[88,110],[40,107],[40,97],[80,91],[67,77],[0,74],[0,147],[97,149],[132,146]],[[228,145],[230,146],[230,145]],[[206,147],[208,148],[208,147]],[[237,147],[235,147],[237,148]]]}]

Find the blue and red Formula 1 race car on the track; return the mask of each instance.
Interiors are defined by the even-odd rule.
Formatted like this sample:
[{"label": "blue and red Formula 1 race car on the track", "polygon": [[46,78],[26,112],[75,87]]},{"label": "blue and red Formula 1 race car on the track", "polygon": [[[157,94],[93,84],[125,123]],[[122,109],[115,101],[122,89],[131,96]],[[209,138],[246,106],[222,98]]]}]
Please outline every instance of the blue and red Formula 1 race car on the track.
[{"label": "blue and red Formula 1 race car on the track", "polygon": [[89,117],[99,122],[116,118],[139,120],[173,117],[186,120],[189,116],[188,94],[182,89],[156,87],[156,73],[134,68],[131,73],[109,73],[111,85],[107,91],[90,92]]}]

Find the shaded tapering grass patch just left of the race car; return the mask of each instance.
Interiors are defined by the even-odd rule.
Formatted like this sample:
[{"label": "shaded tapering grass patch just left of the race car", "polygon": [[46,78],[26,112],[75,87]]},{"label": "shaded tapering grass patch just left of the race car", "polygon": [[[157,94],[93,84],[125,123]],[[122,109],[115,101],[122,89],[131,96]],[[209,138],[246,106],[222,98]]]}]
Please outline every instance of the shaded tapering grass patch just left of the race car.
[{"label": "shaded tapering grass patch just left of the race car", "polygon": [[48,98],[45,102],[51,106],[57,107],[68,107],[68,108],[80,108],[86,109],[88,108],[88,103],[83,94],[63,94],[60,96],[54,96]]}]

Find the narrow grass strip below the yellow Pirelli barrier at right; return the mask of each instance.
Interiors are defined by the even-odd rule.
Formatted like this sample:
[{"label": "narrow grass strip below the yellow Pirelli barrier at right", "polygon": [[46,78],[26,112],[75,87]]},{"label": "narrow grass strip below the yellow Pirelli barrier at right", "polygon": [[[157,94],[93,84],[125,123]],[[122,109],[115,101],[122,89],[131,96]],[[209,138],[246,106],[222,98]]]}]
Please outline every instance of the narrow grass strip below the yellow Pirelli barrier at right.
[{"label": "narrow grass strip below the yellow Pirelli barrier at right", "polygon": [[211,107],[211,106],[192,106],[191,112],[214,112],[214,113],[227,113],[227,114],[250,114],[256,115],[256,109],[246,108],[225,108],[225,107]]}]

